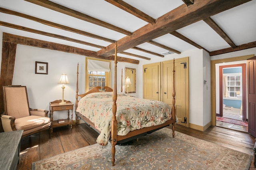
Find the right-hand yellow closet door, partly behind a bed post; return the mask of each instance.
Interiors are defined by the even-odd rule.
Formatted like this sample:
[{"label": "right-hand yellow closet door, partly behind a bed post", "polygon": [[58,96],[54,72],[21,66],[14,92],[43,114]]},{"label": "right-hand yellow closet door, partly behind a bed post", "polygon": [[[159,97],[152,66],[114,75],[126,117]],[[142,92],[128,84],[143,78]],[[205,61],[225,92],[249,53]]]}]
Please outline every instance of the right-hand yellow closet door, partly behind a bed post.
[{"label": "right-hand yellow closet door, partly behind a bed post", "polygon": [[[186,64],[186,65],[185,65]],[[172,107],[173,60],[162,62],[163,102]],[[188,57],[175,59],[175,107],[178,124],[189,127]]]}]

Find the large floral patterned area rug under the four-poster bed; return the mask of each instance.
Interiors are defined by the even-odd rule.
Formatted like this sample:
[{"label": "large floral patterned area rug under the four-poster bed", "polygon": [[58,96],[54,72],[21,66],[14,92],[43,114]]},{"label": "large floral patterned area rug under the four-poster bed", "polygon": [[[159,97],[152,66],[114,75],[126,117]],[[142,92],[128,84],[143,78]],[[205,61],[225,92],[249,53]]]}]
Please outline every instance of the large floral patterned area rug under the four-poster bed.
[{"label": "large floral patterned area rug under the four-poster bed", "polygon": [[244,170],[252,155],[163,128],[128,146],[116,146],[111,166],[111,145],[94,144],[32,163],[33,170]]}]

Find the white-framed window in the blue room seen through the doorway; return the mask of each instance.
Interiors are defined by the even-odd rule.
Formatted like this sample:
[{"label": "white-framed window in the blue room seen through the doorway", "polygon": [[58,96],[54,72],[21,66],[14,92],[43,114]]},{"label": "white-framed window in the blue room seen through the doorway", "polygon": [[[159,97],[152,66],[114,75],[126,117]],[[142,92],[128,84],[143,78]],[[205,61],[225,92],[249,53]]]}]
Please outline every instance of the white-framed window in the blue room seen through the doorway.
[{"label": "white-framed window in the blue room seen through the doorway", "polygon": [[226,76],[226,89],[228,98],[235,98],[237,95],[242,95],[242,75],[241,74],[223,74]]}]

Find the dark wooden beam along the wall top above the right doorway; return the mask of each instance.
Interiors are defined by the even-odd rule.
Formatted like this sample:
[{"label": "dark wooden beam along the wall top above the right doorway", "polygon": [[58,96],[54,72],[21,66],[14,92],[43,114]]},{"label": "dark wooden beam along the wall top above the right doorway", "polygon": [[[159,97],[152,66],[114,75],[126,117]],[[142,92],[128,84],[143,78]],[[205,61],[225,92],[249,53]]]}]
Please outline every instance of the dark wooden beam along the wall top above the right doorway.
[{"label": "dark wooden beam along the wall top above the right doorway", "polygon": [[240,51],[243,49],[254,48],[254,47],[256,47],[256,42],[250,42],[250,43],[238,45],[236,48],[229,47],[229,48],[225,48],[225,49],[211,51],[209,54],[210,54],[210,56],[213,56],[213,55],[219,55],[219,54],[224,54],[224,53],[230,53],[230,52],[234,52],[234,51]]}]

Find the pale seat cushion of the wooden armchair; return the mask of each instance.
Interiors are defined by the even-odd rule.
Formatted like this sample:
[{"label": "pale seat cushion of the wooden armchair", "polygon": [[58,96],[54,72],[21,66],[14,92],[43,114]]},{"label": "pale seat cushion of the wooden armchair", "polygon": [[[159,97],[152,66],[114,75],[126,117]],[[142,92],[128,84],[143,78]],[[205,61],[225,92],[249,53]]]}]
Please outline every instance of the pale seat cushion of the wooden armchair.
[{"label": "pale seat cushion of the wooden armchair", "polygon": [[28,130],[36,127],[44,128],[50,122],[50,118],[41,116],[27,116],[15,120],[15,127],[17,130]]}]

